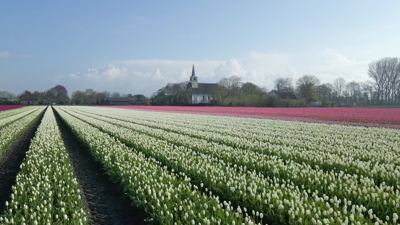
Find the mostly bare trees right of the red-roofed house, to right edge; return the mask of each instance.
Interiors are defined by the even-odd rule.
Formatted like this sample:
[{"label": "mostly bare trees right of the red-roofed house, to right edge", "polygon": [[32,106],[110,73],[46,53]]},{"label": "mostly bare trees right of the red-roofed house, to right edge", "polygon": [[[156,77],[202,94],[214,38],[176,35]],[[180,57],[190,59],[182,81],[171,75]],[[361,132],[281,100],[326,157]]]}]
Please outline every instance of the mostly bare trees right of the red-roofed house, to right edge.
[{"label": "mostly bare trees right of the red-roofed house, to right edge", "polygon": [[[368,64],[372,80],[347,82],[343,77],[320,83],[315,76],[303,76],[296,84],[298,96],[311,96],[328,105],[400,105],[400,59],[385,57]],[[278,89],[277,82],[275,88]],[[307,98],[306,98],[307,99]]]}]

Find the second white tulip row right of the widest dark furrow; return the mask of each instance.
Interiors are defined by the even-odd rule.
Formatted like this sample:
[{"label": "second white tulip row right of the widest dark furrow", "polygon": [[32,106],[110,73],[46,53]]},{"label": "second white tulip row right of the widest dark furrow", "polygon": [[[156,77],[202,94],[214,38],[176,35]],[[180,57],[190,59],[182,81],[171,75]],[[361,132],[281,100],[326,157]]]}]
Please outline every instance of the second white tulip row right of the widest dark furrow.
[{"label": "second white tulip row right of the widest dark furrow", "polygon": [[[392,223],[396,216],[391,212],[385,218],[377,217],[372,209],[356,205],[347,199],[328,197],[318,191],[301,190],[291,181],[264,177],[256,172],[246,171],[241,166],[228,164],[211,157],[77,114],[67,107],[62,108],[70,115],[110,133],[119,140],[140,149],[164,165],[186,173],[196,183],[204,183],[219,195],[231,199],[244,207],[251,207],[268,215],[271,219],[289,223]],[[383,220],[382,220],[383,219]]]}]

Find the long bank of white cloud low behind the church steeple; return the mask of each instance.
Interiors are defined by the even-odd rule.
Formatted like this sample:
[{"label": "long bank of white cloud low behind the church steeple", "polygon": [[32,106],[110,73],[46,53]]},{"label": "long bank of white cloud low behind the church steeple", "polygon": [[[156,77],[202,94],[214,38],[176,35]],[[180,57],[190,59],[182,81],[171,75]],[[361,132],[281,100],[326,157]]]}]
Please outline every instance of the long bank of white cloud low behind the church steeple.
[{"label": "long bank of white cloud low behind the church steeple", "polygon": [[243,82],[271,89],[278,77],[295,81],[303,74],[316,75],[322,82],[332,82],[340,76],[349,81],[366,80],[368,62],[354,60],[332,48],[304,54],[250,52],[227,60],[118,60],[104,68],[69,74],[65,79],[77,80],[84,88],[150,95],[168,82],[187,81],[194,64],[199,82],[218,82],[222,77],[236,75]]}]

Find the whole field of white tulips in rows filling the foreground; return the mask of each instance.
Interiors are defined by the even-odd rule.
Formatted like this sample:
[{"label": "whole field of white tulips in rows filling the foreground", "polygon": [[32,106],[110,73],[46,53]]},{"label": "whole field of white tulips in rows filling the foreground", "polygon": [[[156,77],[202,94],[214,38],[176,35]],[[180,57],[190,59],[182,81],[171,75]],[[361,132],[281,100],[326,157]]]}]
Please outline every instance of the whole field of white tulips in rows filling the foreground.
[{"label": "whole field of white tulips in rows filling the foreground", "polygon": [[[397,111],[391,117],[362,111],[360,120],[343,125],[299,121],[291,109],[285,118],[294,119],[141,107],[0,112],[0,159],[40,120],[8,200],[0,203],[0,224],[127,224],[115,219],[129,216],[115,212],[114,204],[124,203],[106,205],[104,195],[112,198],[111,193],[90,193],[82,169],[99,179],[104,173],[106,183],[118,186],[113,192],[124,193],[145,218],[129,224],[400,223],[400,129],[364,126],[398,125]],[[313,113],[322,118],[321,110]],[[339,117],[326,114],[329,121]],[[64,129],[80,147],[66,142]],[[86,151],[101,170],[78,167],[83,159],[73,149]],[[94,206],[110,215],[98,220],[102,215]]]}]

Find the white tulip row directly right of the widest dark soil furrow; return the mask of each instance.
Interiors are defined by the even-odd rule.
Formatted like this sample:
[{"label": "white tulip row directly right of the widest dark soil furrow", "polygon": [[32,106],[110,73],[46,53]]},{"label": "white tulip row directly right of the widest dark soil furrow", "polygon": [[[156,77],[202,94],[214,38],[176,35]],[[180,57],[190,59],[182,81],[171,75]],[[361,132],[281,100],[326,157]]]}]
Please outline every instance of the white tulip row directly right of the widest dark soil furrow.
[{"label": "white tulip row directly right of the widest dark soil furrow", "polygon": [[[230,202],[220,202],[210,191],[191,185],[190,178],[161,167],[106,133],[56,107],[62,119],[90,147],[104,170],[126,189],[134,204],[160,224],[249,224],[260,223],[262,213],[249,213]],[[198,190],[200,188],[200,190]],[[260,222],[258,222],[260,221]]]}]

